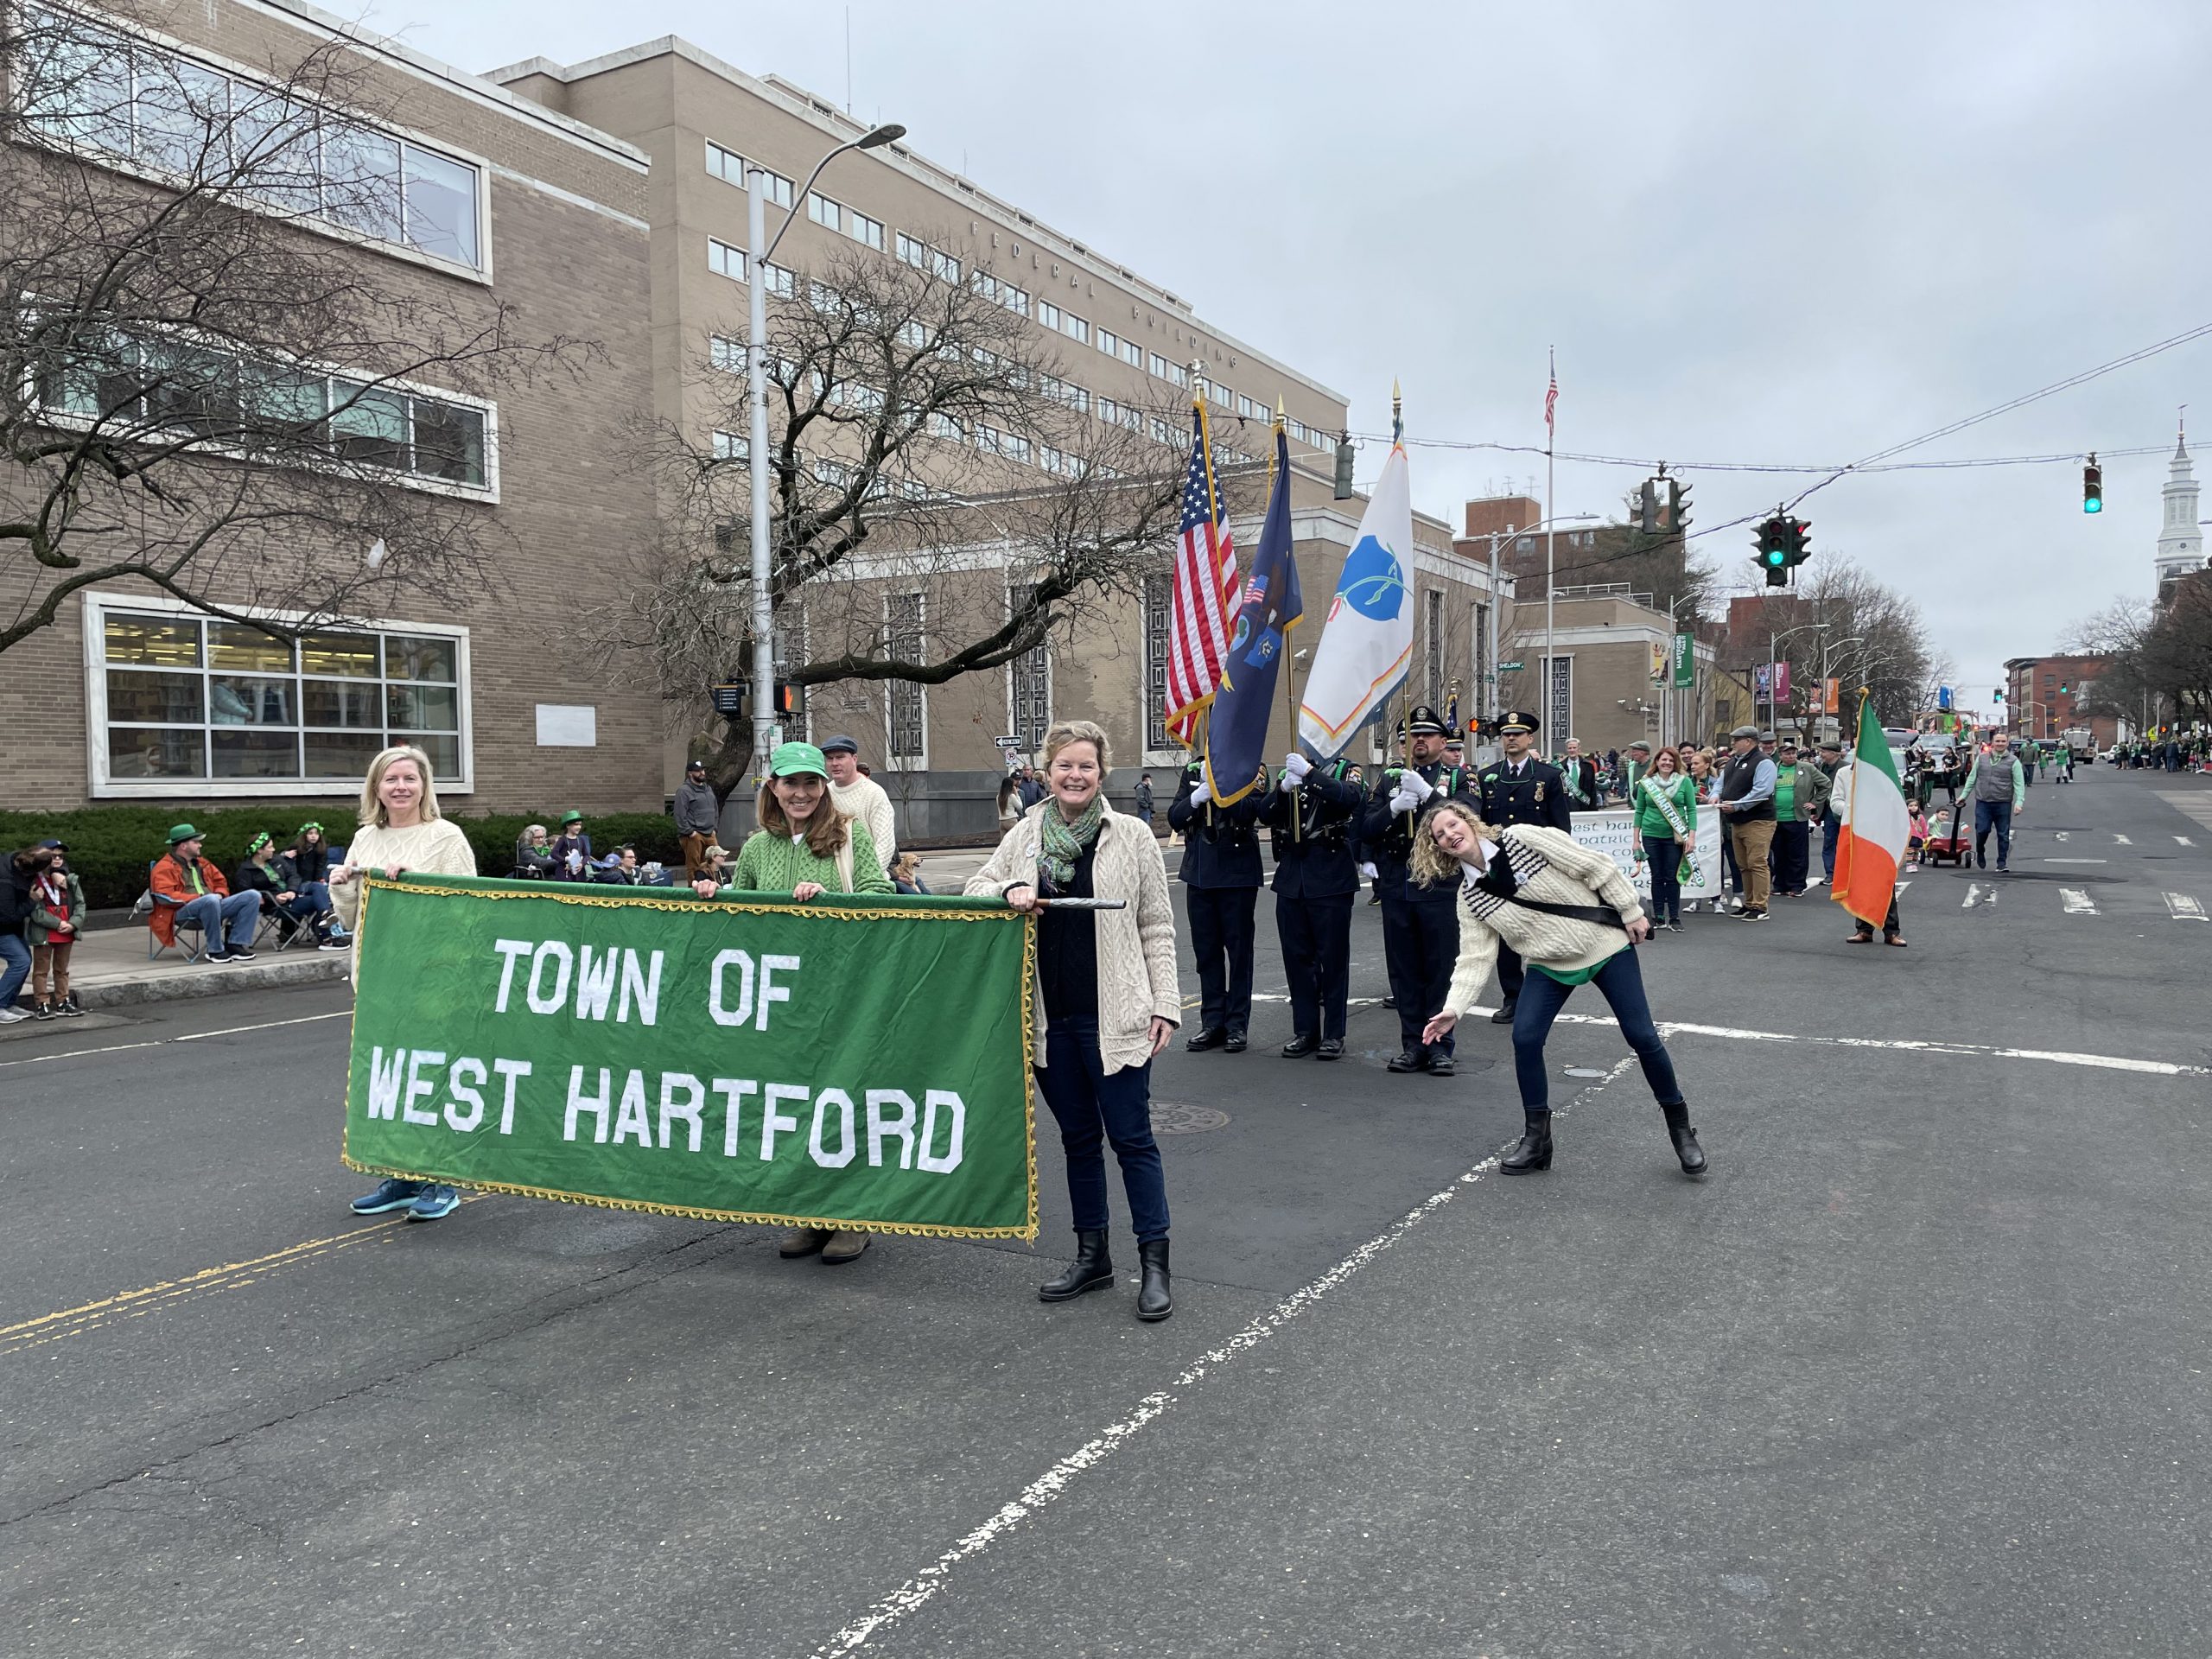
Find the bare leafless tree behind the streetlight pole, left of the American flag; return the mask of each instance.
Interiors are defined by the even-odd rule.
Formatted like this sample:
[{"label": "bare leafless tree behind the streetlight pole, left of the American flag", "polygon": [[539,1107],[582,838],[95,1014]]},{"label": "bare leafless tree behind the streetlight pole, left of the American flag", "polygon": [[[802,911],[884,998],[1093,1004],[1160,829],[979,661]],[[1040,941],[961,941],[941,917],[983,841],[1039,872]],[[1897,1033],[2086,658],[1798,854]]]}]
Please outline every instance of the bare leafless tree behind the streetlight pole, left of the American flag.
[{"label": "bare leafless tree behind the streetlight pole, left of the American flag", "polygon": [[[787,684],[942,686],[1084,626],[1166,568],[1181,411],[1071,385],[989,272],[962,270],[852,250],[770,272],[785,290],[770,305],[765,465]],[[686,701],[743,675],[752,644],[743,341],[699,345],[697,425],[650,436],[661,546],[577,619],[586,646],[648,650],[664,695]],[[728,721],[717,790],[750,750],[745,723]]]}]

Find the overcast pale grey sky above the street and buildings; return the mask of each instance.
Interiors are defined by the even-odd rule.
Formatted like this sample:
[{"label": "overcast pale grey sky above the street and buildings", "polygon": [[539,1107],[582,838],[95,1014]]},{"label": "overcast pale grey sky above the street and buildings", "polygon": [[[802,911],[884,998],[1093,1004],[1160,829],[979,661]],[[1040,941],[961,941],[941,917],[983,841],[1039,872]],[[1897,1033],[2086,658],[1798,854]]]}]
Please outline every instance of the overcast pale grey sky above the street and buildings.
[{"label": "overcast pale grey sky above the street and buildings", "polygon": [[[2212,321],[2212,4],[1210,4],[854,0],[852,104],[1199,316],[1411,438],[1688,462],[1694,522]],[[847,7],[376,0],[465,69],[664,33],[845,102]],[[2199,398],[2197,394],[2203,392]],[[1860,476],[1801,513],[1911,593],[1986,703],[2011,655],[2148,595],[2174,407],[2212,449],[2212,338],[1916,460],[2077,465]],[[1380,451],[1367,451],[1369,478]],[[1458,522],[1542,456],[1413,451]],[[1641,469],[1557,469],[1615,513]],[[1750,531],[1703,542],[1750,584]]]}]

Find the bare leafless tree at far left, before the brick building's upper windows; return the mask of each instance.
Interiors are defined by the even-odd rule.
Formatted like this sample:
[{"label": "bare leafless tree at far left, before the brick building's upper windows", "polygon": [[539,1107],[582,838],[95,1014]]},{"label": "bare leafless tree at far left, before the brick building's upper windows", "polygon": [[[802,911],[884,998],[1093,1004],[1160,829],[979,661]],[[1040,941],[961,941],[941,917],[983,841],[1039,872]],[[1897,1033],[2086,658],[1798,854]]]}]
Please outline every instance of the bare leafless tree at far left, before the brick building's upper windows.
[{"label": "bare leafless tree at far left, before the brick building's upper windows", "polygon": [[119,580],[279,635],[476,591],[495,431],[469,398],[593,347],[345,246],[476,237],[429,184],[403,212],[418,153],[347,42],[234,75],[139,38],[157,9],[111,15],[4,13],[0,650]]}]

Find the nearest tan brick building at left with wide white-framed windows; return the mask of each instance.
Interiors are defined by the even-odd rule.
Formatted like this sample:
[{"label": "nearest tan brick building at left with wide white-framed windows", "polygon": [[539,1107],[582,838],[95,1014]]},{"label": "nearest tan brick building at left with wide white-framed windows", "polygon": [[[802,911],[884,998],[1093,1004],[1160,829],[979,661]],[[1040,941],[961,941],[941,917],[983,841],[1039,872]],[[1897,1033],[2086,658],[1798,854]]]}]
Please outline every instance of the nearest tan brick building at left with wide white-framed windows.
[{"label": "nearest tan brick building at left with wide white-framed windows", "polygon": [[[117,20],[142,82],[184,64],[195,86],[228,84],[237,100],[343,29],[283,0],[210,0],[161,20],[179,33]],[[0,677],[0,799],[11,807],[159,801],[184,816],[223,799],[334,801],[358,790],[376,748],[400,739],[431,752],[440,792],[462,812],[659,803],[657,710],[549,644],[591,551],[653,531],[648,487],[617,445],[619,422],[653,394],[648,159],[403,44],[345,38],[380,113],[365,137],[352,117],[349,128],[405,168],[411,206],[385,237],[321,223],[310,206],[296,234],[327,241],[334,265],[352,263],[396,305],[422,296],[489,321],[504,303],[535,334],[597,349],[575,376],[495,398],[416,387],[400,400],[394,418],[416,422],[416,442],[431,420],[469,434],[467,465],[420,487],[458,498],[504,551],[473,604],[389,593],[376,617],[292,648],[144,582],[64,599],[60,624],[13,646]],[[102,170],[157,177],[131,153]],[[405,425],[398,436],[405,471],[420,449],[407,447]],[[358,562],[365,549],[307,553]],[[0,604],[13,611],[29,593],[24,566],[0,568]],[[210,597],[254,604],[250,584]]]}]

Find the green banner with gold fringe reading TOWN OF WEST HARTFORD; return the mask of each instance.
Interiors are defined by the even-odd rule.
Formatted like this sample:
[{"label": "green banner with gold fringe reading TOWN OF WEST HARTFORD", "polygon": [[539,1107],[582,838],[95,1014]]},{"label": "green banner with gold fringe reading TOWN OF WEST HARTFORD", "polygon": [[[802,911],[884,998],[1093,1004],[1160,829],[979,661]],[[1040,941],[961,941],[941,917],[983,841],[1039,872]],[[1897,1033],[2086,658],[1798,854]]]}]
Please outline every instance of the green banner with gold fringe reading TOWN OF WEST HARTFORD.
[{"label": "green banner with gold fringe reading TOWN OF WEST HARTFORD", "polygon": [[345,1161],[708,1221],[1037,1237],[998,900],[367,878]]}]

